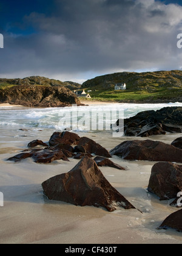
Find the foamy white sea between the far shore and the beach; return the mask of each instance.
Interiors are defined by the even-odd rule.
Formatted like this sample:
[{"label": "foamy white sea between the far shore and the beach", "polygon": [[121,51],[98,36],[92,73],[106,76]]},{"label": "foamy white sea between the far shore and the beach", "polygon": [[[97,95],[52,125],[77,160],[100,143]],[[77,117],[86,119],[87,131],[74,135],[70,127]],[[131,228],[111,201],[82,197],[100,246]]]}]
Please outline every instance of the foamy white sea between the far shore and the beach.
[{"label": "foamy white sea between the far shore and the beach", "polygon": [[18,138],[19,131],[64,131],[79,133],[108,132],[112,135],[110,125],[118,119],[127,119],[138,112],[161,109],[170,106],[182,106],[182,103],[103,103],[87,106],[70,106],[64,108],[27,108],[0,106],[0,137],[11,131],[11,136]]}]

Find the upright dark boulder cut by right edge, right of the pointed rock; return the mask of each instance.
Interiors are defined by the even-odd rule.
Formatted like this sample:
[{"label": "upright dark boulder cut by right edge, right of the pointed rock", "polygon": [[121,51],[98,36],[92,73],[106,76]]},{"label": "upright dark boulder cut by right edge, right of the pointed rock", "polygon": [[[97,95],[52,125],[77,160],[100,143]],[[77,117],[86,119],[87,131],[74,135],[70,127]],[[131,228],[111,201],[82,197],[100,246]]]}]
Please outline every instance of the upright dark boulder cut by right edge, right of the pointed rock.
[{"label": "upright dark boulder cut by right edge, right of the pointed rock", "polygon": [[153,165],[147,190],[160,200],[177,197],[182,191],[182,165],[158,162]]}]

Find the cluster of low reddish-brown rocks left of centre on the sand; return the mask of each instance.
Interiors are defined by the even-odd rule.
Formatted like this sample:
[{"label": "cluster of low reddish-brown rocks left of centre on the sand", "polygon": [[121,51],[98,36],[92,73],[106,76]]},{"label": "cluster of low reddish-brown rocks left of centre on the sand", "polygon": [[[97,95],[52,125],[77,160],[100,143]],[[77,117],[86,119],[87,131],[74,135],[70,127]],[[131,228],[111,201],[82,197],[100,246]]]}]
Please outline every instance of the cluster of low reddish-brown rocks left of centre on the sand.
[{"label": "cluster of low reddish-brown rocks left of centre on the sand", "polygon": [[[38,145],[44,148],[35,148]],[[42,142],[42,140],[36,139],[29,142],[27,147],[29,149],[24,150],[23,153],[9,157],[7,160],[20,162],[27,157],[32,157],[37,163],[49,164],[59,159],[69,161],[69,157],[75,159],[81,159],[84,156],[92,157],[92,154],[111,157],[106,148],[97,144],[94,140],[87,137],[79,137],[78,134],[70,131],[53,133],[52,136],[50,136],[49,145]]]}]

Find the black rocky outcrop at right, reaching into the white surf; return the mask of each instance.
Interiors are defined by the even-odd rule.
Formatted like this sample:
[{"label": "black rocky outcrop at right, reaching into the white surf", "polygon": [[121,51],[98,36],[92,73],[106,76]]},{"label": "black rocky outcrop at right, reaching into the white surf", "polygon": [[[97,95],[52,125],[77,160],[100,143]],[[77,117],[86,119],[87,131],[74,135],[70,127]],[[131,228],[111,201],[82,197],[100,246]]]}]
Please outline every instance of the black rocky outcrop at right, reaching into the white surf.
[{"label": "black rocky outcrop at right, reaching into the white surf", "polygon": [[[120,120],[114,125],[119,125]],[[119,128],[118,128],[119,129]],[[157,134],[182,132],[182,107],[166,107],[157,111],[142,111],[124,119],[126,136],[148,137]]]}]

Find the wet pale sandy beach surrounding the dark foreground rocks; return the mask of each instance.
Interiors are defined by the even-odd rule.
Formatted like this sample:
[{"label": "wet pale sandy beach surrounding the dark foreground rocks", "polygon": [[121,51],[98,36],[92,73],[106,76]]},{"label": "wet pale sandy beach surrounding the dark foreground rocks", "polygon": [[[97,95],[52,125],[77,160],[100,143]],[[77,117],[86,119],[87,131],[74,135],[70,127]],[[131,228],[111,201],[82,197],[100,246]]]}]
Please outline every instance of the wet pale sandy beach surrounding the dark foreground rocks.
[{"label": "wet pale sandy beach surrounding the dark foreground rocks", "polygon": [[[52,129],[19,130],[11,126],[1,129],[0,191],[1,244],[181,244],[181,233],[158,230],[162,221],[178,210],[171,200],[159,201],[147,192],[151,168],[155,162],[126,161],[113,156],[112,161],[126,170],[99,167],[103,175],[136,209],[107,212],[102,207],[74,206],[50,201],[42,192],[41,183],[52,176],[70,171],[79,160],[36,164],[32,159],[6,161],[27,148],[33,139],[47,142]],[[79,133],[111,150],[133,137],[112,137],[110,133]],[[150,139],[171,143],[181,134],[152,136]],[[138,137],[143,140],[144,138]],[[138,210],[137,210],[138,209]],[[142,213],[141,213],[142,212]]]}]

